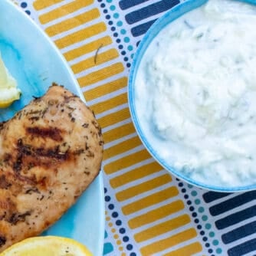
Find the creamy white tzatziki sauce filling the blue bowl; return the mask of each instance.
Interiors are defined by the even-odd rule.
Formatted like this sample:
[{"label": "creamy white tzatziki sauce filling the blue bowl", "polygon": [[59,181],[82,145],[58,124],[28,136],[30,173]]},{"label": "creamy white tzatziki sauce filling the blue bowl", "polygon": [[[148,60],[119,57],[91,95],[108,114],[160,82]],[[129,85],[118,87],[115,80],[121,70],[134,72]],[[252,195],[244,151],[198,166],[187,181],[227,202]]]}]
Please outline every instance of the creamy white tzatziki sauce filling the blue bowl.
[{"label": "creamy white tzatziki sauce filling the blue bowl", "polygon": [[256,6],[210,0],[163,28],[135,80],[139,125],[189,179],[256,183]]}]

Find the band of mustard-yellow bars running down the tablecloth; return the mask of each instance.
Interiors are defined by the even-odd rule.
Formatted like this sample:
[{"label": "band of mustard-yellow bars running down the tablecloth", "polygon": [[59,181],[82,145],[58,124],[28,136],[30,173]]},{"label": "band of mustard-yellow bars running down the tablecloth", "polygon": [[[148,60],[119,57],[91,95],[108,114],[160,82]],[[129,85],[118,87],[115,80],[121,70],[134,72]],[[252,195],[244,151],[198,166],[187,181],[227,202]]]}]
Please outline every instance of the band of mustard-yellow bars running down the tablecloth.
[{"label": "band of mustard-yellow bars running down the tablecloth", "polygon": [[[129,70],[99,3],[34,0],[33,6],[103,128],[105,185],[120,204],[140,254],[165,251],[172,256],[202,251],[176,182],[152,159],[136,135],[126,94]],[[106,221],[120,255],[128,255],[108,212]]]}]

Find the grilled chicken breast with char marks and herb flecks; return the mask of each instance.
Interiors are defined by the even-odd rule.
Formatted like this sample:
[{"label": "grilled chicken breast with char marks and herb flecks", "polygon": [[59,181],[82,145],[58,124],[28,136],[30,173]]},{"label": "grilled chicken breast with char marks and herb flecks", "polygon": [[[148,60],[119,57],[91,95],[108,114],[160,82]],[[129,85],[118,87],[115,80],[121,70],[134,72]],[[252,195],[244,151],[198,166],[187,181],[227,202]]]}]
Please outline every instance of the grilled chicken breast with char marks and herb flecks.
[{"label": "grilled chicken breast with char marks and herb flecks", "polygon": [[0,251],[39,235],[100,172],[103,138],[94,114],[54,84],[0,125]]}]

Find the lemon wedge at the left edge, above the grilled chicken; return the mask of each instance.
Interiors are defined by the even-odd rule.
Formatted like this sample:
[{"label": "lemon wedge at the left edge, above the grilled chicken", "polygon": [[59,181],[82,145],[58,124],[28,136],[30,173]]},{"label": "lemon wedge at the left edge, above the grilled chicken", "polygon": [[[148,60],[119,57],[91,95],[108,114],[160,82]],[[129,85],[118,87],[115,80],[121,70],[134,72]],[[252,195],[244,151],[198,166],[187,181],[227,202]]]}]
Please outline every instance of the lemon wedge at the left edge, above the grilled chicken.
[{"label": "lemon wedge at the left edge, above the grilled chicken", "polygon": [[21,97],[17,82],[5,67],[0,54],[0,108],[9,107],[13,101]]}]

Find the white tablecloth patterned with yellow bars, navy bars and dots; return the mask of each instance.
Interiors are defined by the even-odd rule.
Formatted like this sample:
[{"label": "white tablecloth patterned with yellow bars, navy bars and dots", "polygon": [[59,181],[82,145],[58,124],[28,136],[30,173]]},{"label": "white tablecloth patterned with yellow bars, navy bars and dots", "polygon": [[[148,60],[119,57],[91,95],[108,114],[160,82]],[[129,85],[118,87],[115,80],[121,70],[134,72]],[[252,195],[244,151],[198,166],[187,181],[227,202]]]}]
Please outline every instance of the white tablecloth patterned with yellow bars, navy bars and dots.
[{"label": "white tablecloth patterned with yellow bars, navy bars and dots", "polygon": [[207,192],[170,176],[130,120],[126,86],[136,46],[179,1],[13,1],[64,54],[103,128],[103,254],[255,255],[256,191]]}]

